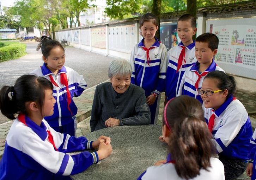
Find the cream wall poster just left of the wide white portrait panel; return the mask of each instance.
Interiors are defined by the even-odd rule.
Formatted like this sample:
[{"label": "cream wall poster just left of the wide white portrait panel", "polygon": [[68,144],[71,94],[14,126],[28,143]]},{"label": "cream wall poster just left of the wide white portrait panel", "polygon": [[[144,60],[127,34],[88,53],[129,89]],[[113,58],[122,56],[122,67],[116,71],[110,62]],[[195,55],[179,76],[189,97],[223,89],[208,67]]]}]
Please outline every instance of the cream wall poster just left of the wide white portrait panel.
[{"label": "cream wall poster just left of the wide white portrait panel", "polygon": [[92,28],[91,29],[92,47],[106,49],[106,28]]}]

